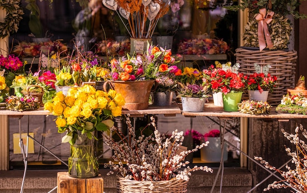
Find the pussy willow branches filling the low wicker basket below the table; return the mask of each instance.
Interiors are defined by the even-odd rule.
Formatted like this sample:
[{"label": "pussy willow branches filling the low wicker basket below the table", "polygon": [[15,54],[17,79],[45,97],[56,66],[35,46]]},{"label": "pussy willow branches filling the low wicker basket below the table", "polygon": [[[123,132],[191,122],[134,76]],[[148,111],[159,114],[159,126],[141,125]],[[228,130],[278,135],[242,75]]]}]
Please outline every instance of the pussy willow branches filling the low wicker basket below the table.
[{"label": "pussy willow branches filling the low wicker basket below the table", "polygon": [[[183,132],[175,130],[169,138],[156,129],[155,120],[151,117],[151,123],[146,127],[153,125],[154,136],[145,137],[141,135],[135,138],[134,128],[131,125],[129,115],[126,123],[128,125],[128,136],[121,130],[113,127],[110,131],[116,133],[121,142],[117,142],[114,138],[103,133],[103,138],[110,149],[113,150],[113,161],[105,164],[104,167],[110,167],[117,172],[117,175],[125,179],[136,181],[164,181],[173,178],[189,180],[191,171],[204,170],[213,172],[207,166],[187,166],[188,161],[184,158],[195,151],[207,146],[208,142],[196,146],[192,150],[180,150],[184,139]],[[145,128],[146,128],[145,127]],[[115,164],[118,162],[118,164]],[[127,166],[124,165],[127,163]],[[180,169],[183,168],[184,169]],[[112,174],[114,171],[108,173]]]}]

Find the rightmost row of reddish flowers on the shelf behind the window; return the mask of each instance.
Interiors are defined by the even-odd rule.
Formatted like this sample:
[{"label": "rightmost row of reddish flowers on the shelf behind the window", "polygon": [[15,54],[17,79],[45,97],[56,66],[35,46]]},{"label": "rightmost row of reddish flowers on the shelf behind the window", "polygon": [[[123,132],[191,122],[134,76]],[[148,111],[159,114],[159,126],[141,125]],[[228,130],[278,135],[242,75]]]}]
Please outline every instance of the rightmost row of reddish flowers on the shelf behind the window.
[{"label": "rightmost row of reddish flowers on the shelf behind the window", "polygon": [[226,54],[228,50],[229,46],[225,41],[205,38],[180,41],[177,53],[184,55],[214,55]]}]

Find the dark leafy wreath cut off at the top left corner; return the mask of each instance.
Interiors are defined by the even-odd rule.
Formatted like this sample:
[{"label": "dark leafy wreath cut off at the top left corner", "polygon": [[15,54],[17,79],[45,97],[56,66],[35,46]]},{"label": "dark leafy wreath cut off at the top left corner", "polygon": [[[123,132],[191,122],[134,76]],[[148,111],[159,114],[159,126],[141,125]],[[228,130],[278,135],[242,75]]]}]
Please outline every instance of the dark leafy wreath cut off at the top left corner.
[{"label": "dark leafy wreath cut off at the top left corner", "polygon": [[21,0],[0,0],[0,7],[6,10],[7,14],[4,22],[0,22],[0,38],[10,35],[11,32],[18,30],[19,22],[23,19],[24,10],[20,6]]}]

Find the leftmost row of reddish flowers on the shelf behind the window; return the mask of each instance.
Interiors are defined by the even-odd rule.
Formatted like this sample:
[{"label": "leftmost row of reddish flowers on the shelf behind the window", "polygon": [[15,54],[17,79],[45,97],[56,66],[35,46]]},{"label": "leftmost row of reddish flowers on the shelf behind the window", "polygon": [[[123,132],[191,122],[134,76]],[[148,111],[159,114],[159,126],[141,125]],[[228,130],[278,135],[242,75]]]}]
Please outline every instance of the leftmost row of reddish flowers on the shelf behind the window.
[{"label": "leftmost row of reddish flowers on the shelf behind the window", "polygon": [[61,54],[64,55],[68,47],[60,40],[47,42],[19,42],[14,46],[12,53],[21,57],[34,57],[44,55]]}]

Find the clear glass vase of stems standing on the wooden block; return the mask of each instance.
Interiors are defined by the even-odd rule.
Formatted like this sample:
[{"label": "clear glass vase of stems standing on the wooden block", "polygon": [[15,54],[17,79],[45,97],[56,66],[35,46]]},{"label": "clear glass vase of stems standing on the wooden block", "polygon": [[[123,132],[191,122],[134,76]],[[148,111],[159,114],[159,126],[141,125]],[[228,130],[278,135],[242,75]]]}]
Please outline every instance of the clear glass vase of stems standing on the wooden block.
[{"label": "clear glass vase of stems standing on the wooden block", "polygon": [[90,178],[99,174],[99,164],[95,156],[95,139],[89,139],[78,132],[75,144],[71,145],[71,156],[68,158],[69,176]]}]

